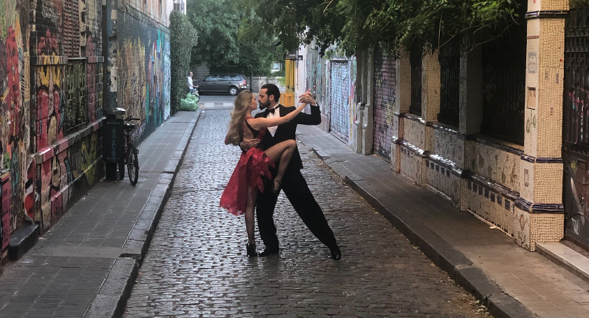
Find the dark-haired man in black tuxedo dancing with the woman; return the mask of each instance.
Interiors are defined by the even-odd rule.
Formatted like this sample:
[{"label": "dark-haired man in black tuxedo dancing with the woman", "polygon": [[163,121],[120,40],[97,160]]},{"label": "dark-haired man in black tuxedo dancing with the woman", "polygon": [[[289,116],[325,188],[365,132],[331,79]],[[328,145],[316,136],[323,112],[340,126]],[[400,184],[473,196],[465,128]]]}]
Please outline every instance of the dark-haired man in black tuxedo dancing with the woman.
[{"label": "dark-haired man in black tuxedo dancing with the woman", "polygon": [[[292,112],[295,107],[284,107],[278,104],[280,95],[280,91],[276,85],[265,84],[262,86],[258,95],[258,103],[260,103],[260,109],[266,110],[256,114],[255,117],[276,118]],[[266,133],[264,139],[260,141],[264,149],[288,139],[295,139],[297,124],[318,125],[321,123],[319,105],[317,105],[315,99],[311,96],[310,91],[299,96],[299,103],[310,104],[311,114],[301,113],[289,123],[268,128],[269,133]],[[257,143],[257,139],[244,140],[240,146],[241,149],[249,149]],[[341,258],[341,250],[336,243],[334,232],[331,231],[327,220],[325,220],[323,211],[321,211],[319,204],[315,201],[311,190],[309,190],[301,174],[302,167],[303,162],[301,161],[299,149],[297,148],[295,149],[295,153],[292,154],[292,158],[283,177],[282,190],[308,229],[311,230],[319,241],[327,245],[331,252],[331,258],[338,260]],[[267,186],[266,188],[270,189],[271,187]],[[258,192],[258,201],[256,202],[258,230],[260,231],[260,237],[264,245],[266,245],[264,251],[260,252],[260,257],[278,254],[278,236],[276,236],[276,226],[274,225],[273,216],[277,199],[278,197],[270,190]]]}]

